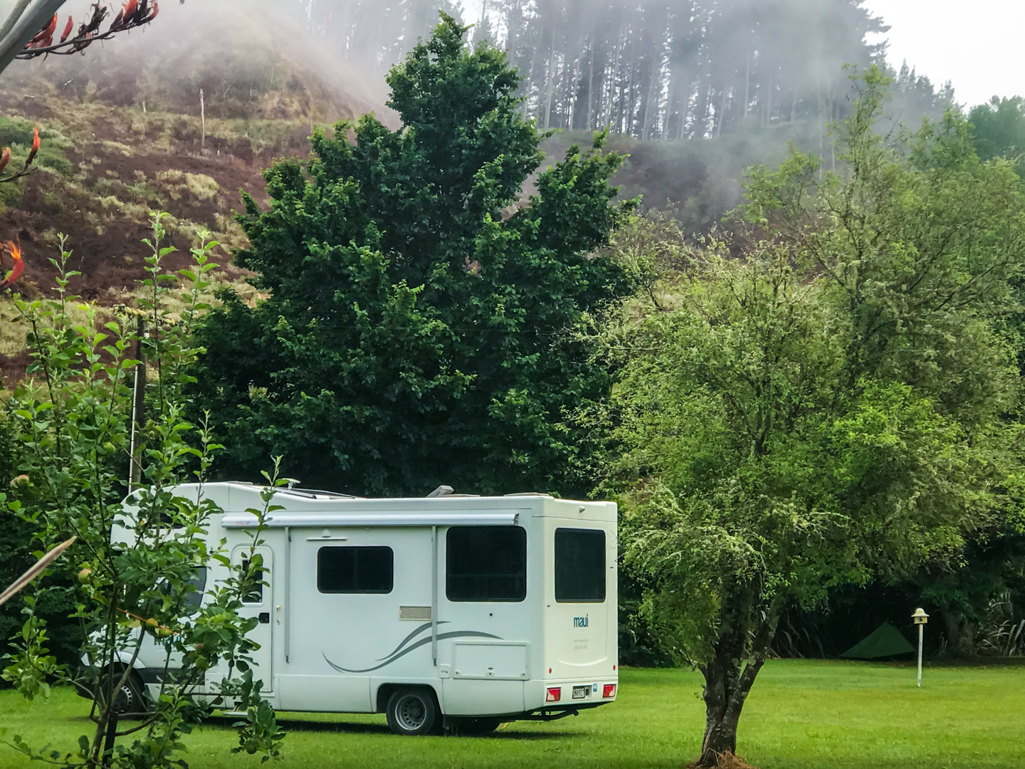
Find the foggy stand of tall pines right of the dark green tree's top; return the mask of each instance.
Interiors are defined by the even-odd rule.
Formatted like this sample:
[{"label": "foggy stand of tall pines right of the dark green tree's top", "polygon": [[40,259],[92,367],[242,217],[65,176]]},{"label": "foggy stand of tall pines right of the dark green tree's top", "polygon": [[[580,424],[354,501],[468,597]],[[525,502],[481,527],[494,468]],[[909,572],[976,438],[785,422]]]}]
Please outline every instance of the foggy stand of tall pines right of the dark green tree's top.
[{"label": "foggy stand of tall pines right of the dark green tree's top", "polygon": [[881,23],[851,0],[505,0],[504,44],[541,127],[684,138],[835,116]]}]

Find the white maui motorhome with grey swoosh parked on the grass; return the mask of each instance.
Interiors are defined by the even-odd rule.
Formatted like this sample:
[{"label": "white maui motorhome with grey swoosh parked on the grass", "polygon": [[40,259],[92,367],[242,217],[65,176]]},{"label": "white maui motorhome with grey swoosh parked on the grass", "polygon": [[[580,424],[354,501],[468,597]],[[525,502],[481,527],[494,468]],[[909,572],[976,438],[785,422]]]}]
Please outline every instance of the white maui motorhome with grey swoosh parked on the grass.
[{"label": "white maui motorhome with grey swoosh parked on the grass", "polygon": [[[234,564],[249,553],[256,519],[245,511],[262,508],[260,490],[203,487],[223,511],[209,542],[227,540]],[[447,491],[277,493],[283,510],[259,548],[266,585],[246,602],[271,704],[385,713],[394,732],[425,734],[554,720],[616,698],[616,505]],[[227,576],[213,565],[200,582]],[[123,694],[156,692],[164,664],[163,645],[146,640]]]}]

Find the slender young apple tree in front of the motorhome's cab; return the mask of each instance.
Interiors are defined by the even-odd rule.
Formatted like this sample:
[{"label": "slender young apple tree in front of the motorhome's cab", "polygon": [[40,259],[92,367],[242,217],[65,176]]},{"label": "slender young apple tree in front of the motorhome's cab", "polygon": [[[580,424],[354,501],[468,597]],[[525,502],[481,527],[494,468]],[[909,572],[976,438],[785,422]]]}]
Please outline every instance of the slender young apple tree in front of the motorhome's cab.
[{"label": "slender young apple tree in front of the motorhome's cab", "polygon": [[[206,538],[218,511],[202,484],[220,447],[205,426],[183,417],[186,369],[198,354],[192,329],[208,309],[203,297],[216,244],[204,240],[192,251],[193,265],[169,275],[163,261],[174,249],[161,246],[161,215],[153,230],[134,314],[102,317],[78,303],[68,292],[76,273],[68,270],[71,253],[63,244],[53,260],[55,298],[16,297],[33,362],[26,380],[2,399],[19,475],[0,493],[0,515],[31,525],[41,553],[74,537],[51,567],[73,575],[73,586],[48,588],[44,576],[23,593],[25,622],[0,675],[30,699],[46,697],[53,682],[76,687],[92,702],[93,728],[65,753],[30,745],[17,734],[2,738],[61,767],[181,766],[181,737],[211,704],[246,714],[236,751],[277,756],[283,736],[260,697],[259,671],[250,665],[256,645],[247,633],[257,620],[240,615],[243,598],[261,578],[256,548],[263,518],[276,510],[277,474],[266,476],[263,508],[252,511],[260,526],[247,565],[233,568]],[[180,289],[171,287],[176,281]],[[139,352],[153,372],[138,380],[142,404],[131,387]],[[125,504],[129,466],[140,470]],[[176,491],[188,482],[198,482],[195,495]],[[214,564],[229,569],[228,578],[201,586]],[[36,611],[47,590],[72,594],[81,666],[58,664],[48,651],[46,622]],[[155,642],[166,653],[160,690],[151,698],[133,664],[141,645]],[[219,696],[197,697],[201,686]]]}]

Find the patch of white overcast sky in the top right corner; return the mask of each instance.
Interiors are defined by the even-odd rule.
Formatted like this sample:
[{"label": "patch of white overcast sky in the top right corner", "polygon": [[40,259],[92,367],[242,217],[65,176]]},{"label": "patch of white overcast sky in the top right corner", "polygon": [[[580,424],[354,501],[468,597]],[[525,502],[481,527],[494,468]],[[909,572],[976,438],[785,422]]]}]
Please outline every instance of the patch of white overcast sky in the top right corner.
[{"label": "patch of white overcast sky in the top right corner", "polygon": [[1022,0],[867,0],[892,29],[888,59],[905,58],[936,84],[950,80],[969,107],[1025,95]]}]

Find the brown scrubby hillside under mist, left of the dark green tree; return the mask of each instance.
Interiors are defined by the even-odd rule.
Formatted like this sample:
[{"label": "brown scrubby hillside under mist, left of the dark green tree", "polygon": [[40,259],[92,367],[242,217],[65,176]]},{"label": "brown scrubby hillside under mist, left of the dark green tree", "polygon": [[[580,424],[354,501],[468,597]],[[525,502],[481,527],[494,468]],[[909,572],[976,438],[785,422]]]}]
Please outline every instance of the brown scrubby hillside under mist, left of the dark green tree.
[{"label": "brown scrubby hillside under mist, left of the dark green tree", "polygon": [[385,112],[312,49],[293,50],[270,17],[239,19],[225,7],[192,14],[204,26],[168,14],[84,56],[18,62],[4,74],[0,143],[16,155],[42,126],[39,171],[0,190],[0,229],[25,246],[25,287],[49,282],[47,257],[65,233],[83,272],[76,290],[116,299],[140,274],[153,210],[173,215],[179,249],[201,228],[240,245],[239,190],[264,199],[261,170],[275,157],[305,157],[312,123]]}]

